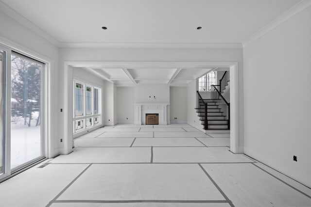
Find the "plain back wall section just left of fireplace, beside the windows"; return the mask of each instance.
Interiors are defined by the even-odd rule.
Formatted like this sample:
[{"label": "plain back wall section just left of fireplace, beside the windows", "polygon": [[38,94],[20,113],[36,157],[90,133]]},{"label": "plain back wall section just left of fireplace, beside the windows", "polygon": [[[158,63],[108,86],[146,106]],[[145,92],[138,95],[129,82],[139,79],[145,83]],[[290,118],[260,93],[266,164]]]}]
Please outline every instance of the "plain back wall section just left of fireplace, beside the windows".
[{"label": "plain back wall section just left of fireplace, beside the windows", "polygon": [[134,86],[117,87],[117,123],[134,123]]}]

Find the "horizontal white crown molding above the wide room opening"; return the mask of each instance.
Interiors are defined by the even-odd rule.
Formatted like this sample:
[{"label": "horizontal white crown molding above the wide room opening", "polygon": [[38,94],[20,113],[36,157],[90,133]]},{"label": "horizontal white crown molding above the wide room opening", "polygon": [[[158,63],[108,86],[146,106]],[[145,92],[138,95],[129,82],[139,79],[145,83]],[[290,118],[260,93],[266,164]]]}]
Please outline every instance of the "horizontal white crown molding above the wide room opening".
[{"label": "horizontal white crown molding above the wide room opening", "polygon": [[242,43],[64,42],[61,48],[242,48]]}]

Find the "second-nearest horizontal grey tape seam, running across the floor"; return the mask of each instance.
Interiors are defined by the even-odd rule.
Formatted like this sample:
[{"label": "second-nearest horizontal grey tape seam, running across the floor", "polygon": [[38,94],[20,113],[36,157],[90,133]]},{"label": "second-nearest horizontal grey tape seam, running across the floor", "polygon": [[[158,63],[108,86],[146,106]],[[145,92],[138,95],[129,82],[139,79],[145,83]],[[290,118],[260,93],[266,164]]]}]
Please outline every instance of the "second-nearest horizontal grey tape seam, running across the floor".
[{"label": "second-nearest horizontal grey tape seam, running across the floor", "polygon": [[[253,164],[257,162],[152,162],[153,164]],[[57,163],[51,162],[51,164],[150,164],[150,162],[82,162],[82,163]]]}]

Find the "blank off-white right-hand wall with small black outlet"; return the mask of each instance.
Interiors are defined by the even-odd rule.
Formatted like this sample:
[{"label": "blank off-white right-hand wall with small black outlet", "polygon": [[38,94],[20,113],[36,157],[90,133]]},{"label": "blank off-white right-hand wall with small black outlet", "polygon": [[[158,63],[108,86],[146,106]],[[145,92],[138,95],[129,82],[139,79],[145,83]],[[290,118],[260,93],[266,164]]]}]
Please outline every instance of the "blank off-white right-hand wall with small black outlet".
[{"label": "blank off-white right-hand wall with small black outlet", "polygon": [[245,153],[309,187],[310,20],[311,6],[243,51]]}]

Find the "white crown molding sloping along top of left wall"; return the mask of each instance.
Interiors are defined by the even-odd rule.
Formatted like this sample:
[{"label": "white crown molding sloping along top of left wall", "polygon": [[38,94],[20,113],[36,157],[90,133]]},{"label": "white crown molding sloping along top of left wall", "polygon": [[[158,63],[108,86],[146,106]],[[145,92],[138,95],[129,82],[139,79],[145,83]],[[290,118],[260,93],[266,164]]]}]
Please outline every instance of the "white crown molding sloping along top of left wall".
[{"label": "white crown molding sloping along top of left wall", "polygon": [[38,26],[36,26],[33,22],[29,21],[24,16],[21,16],[17,11],[6,5],[0,0],[0,11],[5,15],[11,17],[12,19],[16,20],[18,23],[24,25],[31,31],[35,32],[36,34],[40,35],[44,39],[51,42],[53,45],[60,47],[60,42],[57,41],[54,37],[52,37],[47,32],[41,30]]}]

